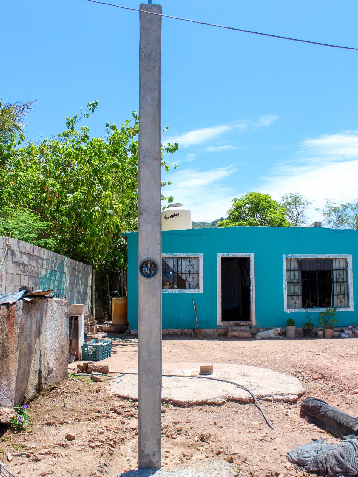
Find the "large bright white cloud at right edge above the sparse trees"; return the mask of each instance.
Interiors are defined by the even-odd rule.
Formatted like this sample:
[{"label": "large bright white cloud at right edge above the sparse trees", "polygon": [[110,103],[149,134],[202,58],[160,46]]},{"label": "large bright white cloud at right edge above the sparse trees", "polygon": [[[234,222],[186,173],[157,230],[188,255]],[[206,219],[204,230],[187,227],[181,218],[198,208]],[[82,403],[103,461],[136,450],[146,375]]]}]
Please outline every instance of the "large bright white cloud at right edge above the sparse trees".
[{"label": "large bright white cloud at right edge above the sparse trees", "polygon": [[326,199],[355,202],[358,198],[358,133],[322,135],[301,143],[294,160],[281,164],[263,178],[263,188],[276,199],[289,192],[304,194],[315,203],[311,221]]}]

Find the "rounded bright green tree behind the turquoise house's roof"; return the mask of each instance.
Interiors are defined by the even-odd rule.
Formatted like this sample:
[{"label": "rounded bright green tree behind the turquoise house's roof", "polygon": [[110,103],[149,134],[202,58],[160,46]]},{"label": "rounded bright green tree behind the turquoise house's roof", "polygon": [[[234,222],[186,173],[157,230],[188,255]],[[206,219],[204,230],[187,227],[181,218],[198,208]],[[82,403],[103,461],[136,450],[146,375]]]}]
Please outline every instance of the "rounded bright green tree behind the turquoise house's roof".
[{"label": "rounded bright green tree behind the turquoise house's roof", "polygon": [[218,227],[287,227],[284,208],[269,194],[249,192],[243,197],[232,199],[232,207]]}]

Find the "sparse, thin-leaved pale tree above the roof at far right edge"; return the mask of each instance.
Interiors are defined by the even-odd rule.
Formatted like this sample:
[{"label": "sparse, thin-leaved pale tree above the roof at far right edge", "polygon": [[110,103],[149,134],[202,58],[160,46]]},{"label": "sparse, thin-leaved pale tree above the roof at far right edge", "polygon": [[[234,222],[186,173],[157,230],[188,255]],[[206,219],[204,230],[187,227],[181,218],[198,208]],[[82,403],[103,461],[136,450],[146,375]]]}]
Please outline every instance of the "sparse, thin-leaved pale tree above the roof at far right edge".
[{"label": "sparse, thin-leaved pale tree above the roof at far right edge", "polygon": [[323,215],[329,228],[358,228],[358,202],[356,204],[349,202],[337,204],[326,200],[324,207],[316,210]]}]

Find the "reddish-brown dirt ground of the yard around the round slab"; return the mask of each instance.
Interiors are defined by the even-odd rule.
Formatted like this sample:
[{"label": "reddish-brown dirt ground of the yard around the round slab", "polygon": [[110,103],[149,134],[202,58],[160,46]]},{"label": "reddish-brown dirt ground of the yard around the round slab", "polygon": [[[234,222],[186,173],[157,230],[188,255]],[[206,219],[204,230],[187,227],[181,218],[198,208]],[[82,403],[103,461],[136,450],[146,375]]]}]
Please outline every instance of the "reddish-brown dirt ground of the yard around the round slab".
[{"label": "reddish-brown dirt ground of the yard around the round slab", "polygon": [[[113,342],[111,371],[137,363],[137,339]],[[320,397],[358,416],[358,340],[228,340],[166,337],[166,363],[244,363],[297,377],[306,392],[294,404],[263,401],[272,431],[253,404],[162,407],[162,461],[181,463],[225,459],[241,477],[304,476],[286,459],[296,446],[325,438],[338,443],[299,415],[300,401]],[[0,460],[16,476],[85,477],[116,475],[137,466],[137,404],[112,396],[110,381],[69,379],[29,403],[29,432],[0,430]],[[111,409],[112,408],[112,409]],[[117,412],[115,412],[115,410]],[[72,434],[74,440],[65,439]],[[6,454],[32,452],[28,456]],[[37,457],[39,455],[39,457]],[[40,458],[41,460],[34,461]]]}]

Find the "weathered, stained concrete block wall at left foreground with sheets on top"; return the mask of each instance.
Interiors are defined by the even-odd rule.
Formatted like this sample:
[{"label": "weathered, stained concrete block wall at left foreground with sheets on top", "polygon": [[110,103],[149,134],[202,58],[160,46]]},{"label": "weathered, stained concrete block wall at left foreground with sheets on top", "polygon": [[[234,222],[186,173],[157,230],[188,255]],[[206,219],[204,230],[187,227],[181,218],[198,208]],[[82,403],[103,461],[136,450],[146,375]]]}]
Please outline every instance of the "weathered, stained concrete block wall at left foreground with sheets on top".
[{"label": "weathered, stained concrete block wall at left foreground with sheets on top", "polygon": [[22,404],[67,377],[68,302],[0,305],[0,407]]}]

